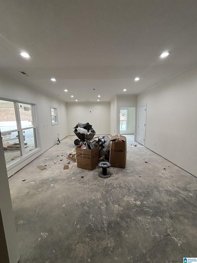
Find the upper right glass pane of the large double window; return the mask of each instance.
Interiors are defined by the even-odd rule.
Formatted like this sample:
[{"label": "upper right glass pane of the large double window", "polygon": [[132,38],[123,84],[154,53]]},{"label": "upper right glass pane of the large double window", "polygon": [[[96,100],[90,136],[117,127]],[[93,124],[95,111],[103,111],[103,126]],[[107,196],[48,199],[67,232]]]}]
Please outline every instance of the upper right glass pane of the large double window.
[{"label": "upper right glass pane of the large double window", "polygon": [[24,103],[18,103],[18,106],[19,106],[22,129],[34,126],[33,114],[32,114],[32,105],[24,104]]}]

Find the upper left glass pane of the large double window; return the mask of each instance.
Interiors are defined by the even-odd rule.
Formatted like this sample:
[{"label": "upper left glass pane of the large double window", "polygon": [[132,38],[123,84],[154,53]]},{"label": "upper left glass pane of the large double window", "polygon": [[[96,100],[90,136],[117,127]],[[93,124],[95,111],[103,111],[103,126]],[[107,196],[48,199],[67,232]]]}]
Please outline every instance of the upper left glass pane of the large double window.
[{"label": "upper left glass pane of the large double window", "polygon": [[14,102],[0,100],[1,132],[17,129]]}]

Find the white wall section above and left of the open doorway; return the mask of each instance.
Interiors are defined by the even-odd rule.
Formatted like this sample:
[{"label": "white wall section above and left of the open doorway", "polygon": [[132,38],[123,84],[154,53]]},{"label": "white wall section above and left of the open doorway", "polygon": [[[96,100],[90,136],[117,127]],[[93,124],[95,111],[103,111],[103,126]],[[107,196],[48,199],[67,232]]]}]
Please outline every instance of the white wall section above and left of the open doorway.
[{"label": "white wall section above and left of the open doorway", "polygon": [[116,110],[116,131],[120,133],[120,108],[136,107],[137,95],[116,95],[117,110]]}]

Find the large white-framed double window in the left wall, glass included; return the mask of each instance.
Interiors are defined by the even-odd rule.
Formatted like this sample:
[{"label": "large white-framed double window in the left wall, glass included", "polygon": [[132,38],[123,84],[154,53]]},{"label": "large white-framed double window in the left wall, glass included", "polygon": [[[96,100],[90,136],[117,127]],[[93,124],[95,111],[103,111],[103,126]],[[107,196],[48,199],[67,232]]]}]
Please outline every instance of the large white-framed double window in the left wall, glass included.
[{"label": "large white-framed double window in the left wall, glass included", "polygon": [[38,149],[35,104],[0,100],[0,130],[7,168],[28,158]]}]

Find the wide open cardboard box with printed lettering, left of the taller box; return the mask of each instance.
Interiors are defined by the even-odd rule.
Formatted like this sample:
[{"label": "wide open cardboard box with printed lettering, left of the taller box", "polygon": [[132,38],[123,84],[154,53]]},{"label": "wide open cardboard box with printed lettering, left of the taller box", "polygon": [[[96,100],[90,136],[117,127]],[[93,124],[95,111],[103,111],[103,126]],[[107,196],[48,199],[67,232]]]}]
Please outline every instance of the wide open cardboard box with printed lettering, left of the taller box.
[{"label": "wide open cardboard box with printed lettering, left of the taller box", "polygon": [[86,170],[94,170],[99,162],[99,146],[94,144],[93,150],[81,149],[81,146],[76,147],[77,151],[77,167]]}]

